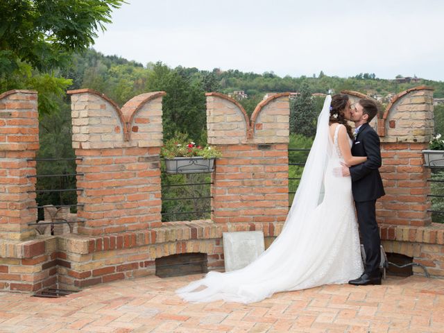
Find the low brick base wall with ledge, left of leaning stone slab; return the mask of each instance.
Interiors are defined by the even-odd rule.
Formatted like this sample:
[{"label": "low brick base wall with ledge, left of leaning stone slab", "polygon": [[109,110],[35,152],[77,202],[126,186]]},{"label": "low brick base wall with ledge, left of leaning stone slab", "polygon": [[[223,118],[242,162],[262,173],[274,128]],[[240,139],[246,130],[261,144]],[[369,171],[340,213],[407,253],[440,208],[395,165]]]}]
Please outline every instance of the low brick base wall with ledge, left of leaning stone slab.
[{"label": "low brick base wall with ledge, left of leaning stone slab", "polygon": [[93,284],[155,273],[155,259],[207,253],[208,268],[223,268],[221,228],[211,221],[167,222],[159,228],[104,236],[59,237],[58,285],[78,290]]}]

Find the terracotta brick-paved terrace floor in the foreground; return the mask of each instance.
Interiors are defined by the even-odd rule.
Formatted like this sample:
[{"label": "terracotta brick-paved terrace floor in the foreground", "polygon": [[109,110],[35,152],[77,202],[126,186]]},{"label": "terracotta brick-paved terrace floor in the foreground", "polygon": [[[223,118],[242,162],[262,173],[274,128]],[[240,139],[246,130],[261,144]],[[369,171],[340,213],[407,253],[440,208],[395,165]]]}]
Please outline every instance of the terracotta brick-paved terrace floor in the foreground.
[{"label": "terracotta brick-paved terrace floor in the foreground", "polygon": [[444,332],[442,280],[389,277],[382,286],[323,286],[250,305],[176,296],[201,276],[116,281],[55,299],[0,293],[0,332]]}]

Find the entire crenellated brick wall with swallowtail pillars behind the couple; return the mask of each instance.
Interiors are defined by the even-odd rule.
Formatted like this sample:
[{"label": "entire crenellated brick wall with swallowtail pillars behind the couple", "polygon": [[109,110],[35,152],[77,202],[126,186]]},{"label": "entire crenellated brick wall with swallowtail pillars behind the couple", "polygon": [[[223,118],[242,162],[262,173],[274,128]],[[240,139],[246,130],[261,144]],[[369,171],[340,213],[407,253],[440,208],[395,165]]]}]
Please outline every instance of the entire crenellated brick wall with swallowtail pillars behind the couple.
[{"label": "entire crenellated brick wall with swallowtail pillars behind the couple", "polygon": [[[34,157],[38,148],[37,96],[0,95],[0,290],[81,289],[153,274],[156,258],[207,253],[223,268],[223,231],[262,230],[266,247],[288,212],[288,94],[257,105],[251,118],[222,94],[207,94],[209,144],[223,157],[212,175],[212,221],[161,223],[162,92],[136,96],[120,109],[89,89],[69,92],[78,160],[79,234],[38,236]],[[350,92],[355,99],[359,94]],[[382,141],[387,195],[377,214],[386,252],[413,257],[432,276],[444,276],[443,225],[427,213],[429,170],[422,167],[432,123],[432,91],[395,96],[373,126]],[[11,164],[12,162],[12,164]],[[4,214],[3,214],[4,213]],[[8,220],[6,220],[6,218]],[[31,239],[31,240],[28,240]],[[419,268],[415,273],[422,274]]]}]

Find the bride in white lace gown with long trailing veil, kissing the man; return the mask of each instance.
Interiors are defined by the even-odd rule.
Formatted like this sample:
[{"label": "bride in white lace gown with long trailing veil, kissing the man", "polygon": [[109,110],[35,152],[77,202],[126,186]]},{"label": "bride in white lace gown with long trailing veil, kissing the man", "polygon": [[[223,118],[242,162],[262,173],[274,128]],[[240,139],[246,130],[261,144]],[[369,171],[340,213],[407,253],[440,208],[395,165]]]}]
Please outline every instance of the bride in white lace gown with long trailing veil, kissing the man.
[{"label": "bride in white lace gown with long trailing veil, kissing the man", "polygon": [[367,157],[351,155],[348,96],[327,96],[316,137],[284,228],[254,262],[237,271],[212,271],[178,289],[189,302],[258,302],[280,291],[342,284],[364,271],[353,205],[351,178],[336,176],[341,162],[356,165]]}]

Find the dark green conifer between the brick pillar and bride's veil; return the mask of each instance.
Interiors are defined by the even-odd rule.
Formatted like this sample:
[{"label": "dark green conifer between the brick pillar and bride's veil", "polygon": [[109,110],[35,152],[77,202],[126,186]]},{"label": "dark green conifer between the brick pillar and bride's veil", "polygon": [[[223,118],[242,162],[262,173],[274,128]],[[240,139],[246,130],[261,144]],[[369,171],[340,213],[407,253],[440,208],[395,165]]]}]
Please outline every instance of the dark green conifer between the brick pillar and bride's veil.
[{"label": "dark green conifer between the brick pillar and bride's veil", "polygon": [[300,94],[291,105],[290,133],[314,137],[316,134],[316,110],[308,85],[302,84]]}]

